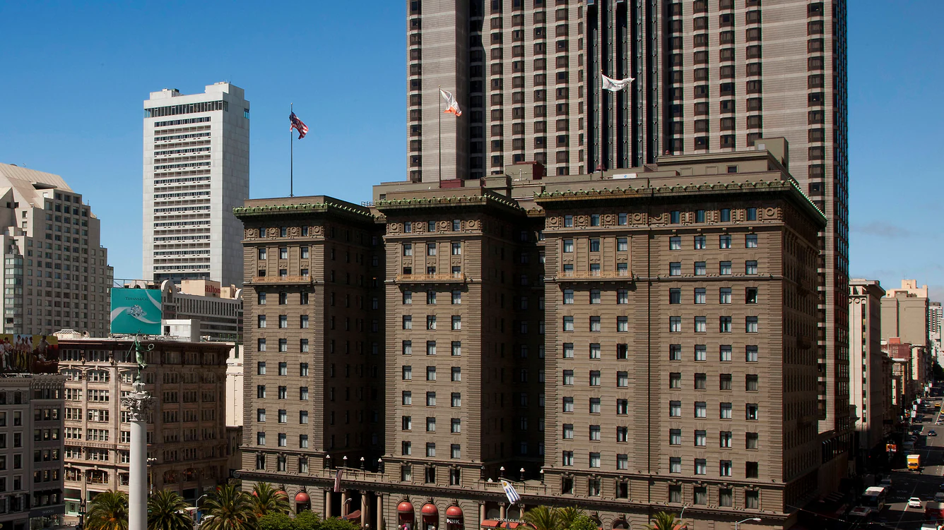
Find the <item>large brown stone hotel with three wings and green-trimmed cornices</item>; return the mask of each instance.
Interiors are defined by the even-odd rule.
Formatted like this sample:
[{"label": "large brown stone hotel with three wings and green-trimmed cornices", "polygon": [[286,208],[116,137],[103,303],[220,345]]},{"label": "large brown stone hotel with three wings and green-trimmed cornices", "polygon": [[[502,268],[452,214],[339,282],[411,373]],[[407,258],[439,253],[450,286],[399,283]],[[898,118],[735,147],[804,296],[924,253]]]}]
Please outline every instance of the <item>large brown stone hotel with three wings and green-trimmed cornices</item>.
[{"label": "large brown stone hotel with three wings and green-trimmed cornices", "polygon": [[[385,183],[370,210],[327,197],[248,201],[236,214],[245,269],[257,271],[246,290],[259,292],[246,303],[255,325],[239,476],[278,484],[295,509],[376,528],[516,519],[524,508],[504,504],[498,478],[516,483],[524,505],[579,504],[607,529],[683,506],[696,523],[756,515],[789,527],[818,491],[823,456],[825,219],[790,177],[785,141],[765,142],[603,178],[525,165],[449,189]],[[330,231],[342,212],[350,241]],[[383,397],[336,405],[330,388],[358,384],[357,365],[342,376],[331,354],[296,355],[295,340],[316,335],[295,322],[324,310],[332,291],[340,300],[347,277],[332,276],[325,256],[359,240],[363,257],[349,269],[354,279],[366,265],[363,318],[378,357],[365,357],[379,375],[367,385]],[[296,289],[309,293],[301,314]],[[315,320],[324,341],[337,336],[331,317],[336,326],[348,311],[331,307]],[[305,362],[299,384],[321,386],[323,413],[287,383]],[[312,366],[322,372],[312,377]],[[381,451],[338,446],[346,427],[330,418],[351,406],[381,411]],[[270,449],[272,408],[285,421]],[[296,414],[312,426],[296,427]],[[321,445],[297,447],[309,437]]]}]

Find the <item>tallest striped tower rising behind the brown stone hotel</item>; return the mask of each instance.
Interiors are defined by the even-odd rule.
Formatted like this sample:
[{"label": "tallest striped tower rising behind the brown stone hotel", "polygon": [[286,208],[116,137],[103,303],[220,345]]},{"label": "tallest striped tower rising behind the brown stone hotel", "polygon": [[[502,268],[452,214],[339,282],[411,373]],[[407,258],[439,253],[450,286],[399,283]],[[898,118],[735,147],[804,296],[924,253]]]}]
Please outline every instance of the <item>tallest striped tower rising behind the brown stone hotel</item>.
[{"label": "tallest striped tower rising behind the brown stone hotel", "polygon": [[[851,443],[846,2],[408,0],[413,182],[641,167],[784,137],[826,215],[819,266],[824,459]],[[600,91],[600,73],[634,77]],[[464,114],[442,116],[437,87]],[[441,120],[441,122],[440,122]],[[442,131],[440,133],[440,131]],[[440,171],[440,149],[441,171]]]}]

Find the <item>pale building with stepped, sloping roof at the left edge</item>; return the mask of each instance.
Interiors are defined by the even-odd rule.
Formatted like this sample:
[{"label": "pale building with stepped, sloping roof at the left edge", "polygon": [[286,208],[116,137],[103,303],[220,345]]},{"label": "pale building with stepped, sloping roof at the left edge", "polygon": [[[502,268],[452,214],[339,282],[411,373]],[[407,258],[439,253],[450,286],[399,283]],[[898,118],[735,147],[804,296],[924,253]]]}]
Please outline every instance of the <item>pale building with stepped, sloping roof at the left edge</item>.
[{"label": "pale building with stepped, sloping roof at the left edge", "polygon": [[100,222],[58,174],[0,164],[3,332],[109,333],[112,270]]}]

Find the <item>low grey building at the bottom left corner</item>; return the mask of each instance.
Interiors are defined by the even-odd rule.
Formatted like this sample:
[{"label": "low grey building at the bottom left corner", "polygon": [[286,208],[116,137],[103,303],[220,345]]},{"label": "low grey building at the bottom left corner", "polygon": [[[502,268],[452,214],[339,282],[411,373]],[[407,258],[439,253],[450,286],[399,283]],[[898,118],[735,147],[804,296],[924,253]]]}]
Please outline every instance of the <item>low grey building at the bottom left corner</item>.
[{"label": "low grey building at the bottom left corner", "polygon": [[62,525],[62,383],[0,374],[0,528]]}]

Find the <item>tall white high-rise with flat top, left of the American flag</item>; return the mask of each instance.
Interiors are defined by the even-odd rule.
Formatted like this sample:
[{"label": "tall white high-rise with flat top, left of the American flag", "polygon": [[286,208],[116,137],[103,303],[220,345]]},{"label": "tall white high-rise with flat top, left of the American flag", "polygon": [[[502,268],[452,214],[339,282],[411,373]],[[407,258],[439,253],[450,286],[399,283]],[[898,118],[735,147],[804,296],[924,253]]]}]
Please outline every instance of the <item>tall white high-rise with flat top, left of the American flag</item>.
[{"label": "tall white high-rise with flat top, left of the American flag", "polygon": [[243,283],[249,197],[249,102],[226,82],[144,101],[143,275],[160,282]]}]

